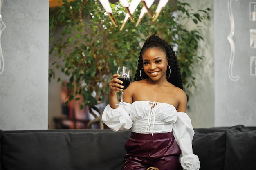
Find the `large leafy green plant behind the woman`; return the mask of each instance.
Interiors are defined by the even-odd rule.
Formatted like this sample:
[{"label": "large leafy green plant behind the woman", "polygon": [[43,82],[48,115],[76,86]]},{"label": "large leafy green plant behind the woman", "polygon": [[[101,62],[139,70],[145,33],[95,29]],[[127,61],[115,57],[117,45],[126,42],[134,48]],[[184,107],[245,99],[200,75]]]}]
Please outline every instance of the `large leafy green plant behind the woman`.
[{"label": "large leafy green plant behind the woman", "polygon": [[[135,74],[141,42],[151,34],[157,34],[178,47],[176,54],[184,90],[189,94],[189,87],[194,85],[191,65],[203,58],[196,54],[198,41],[203,38],[196,29],[184,29],[179,20],[193,20],[197,24],[209,19],[209,8],[193,12],[189,4],[177,1],[175,6],[167,4],[156,22],[151,22],[152,18],[145,16],[139,26],[135,27],[134,22],[128,21],[120,31],[126,15],[121,4],[111,4],[119,25],[116,28],[98,0],[63,2],[60,7],[50,9],[50,43],[54,42],[50,54],[54,54],[61,62],[56,61],[50,67],[49,81],[55,77],[56,69],[61,69],[70,77],[66,84],[63,83],[71,91],[69,101],[82,97],[84,102],[81,108],[88,106],[92,114],[92,110],[99,112],[100,116],[94,114],[95,120],[89,123],[89,127],[95,121],[101,123],[102,112],[97,104],[108,100],[108,83],[112,74],[118,65],[130,67],[131,75]],[[153,4],[150,10],[153,12],[156,7],[157,4]],[[142,4],[133,13],[135,19],[141,8]],[[175,17],[174,11],[182,15]],[[58,81],[61,79],[58,78]]]}]

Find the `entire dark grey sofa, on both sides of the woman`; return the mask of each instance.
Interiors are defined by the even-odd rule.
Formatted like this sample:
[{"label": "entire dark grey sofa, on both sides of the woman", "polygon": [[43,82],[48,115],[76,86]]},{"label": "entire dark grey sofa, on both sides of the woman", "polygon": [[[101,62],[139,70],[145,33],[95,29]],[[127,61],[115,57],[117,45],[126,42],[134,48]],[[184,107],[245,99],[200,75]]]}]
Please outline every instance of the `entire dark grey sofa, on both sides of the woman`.
[{"label": "entire dark grey sofa, on both sides of the woman", "polygon": [[[194,129],[200,170],[256,169],[256,128]],[[121,170],[130,130],[0,130],[0,170]]]}]

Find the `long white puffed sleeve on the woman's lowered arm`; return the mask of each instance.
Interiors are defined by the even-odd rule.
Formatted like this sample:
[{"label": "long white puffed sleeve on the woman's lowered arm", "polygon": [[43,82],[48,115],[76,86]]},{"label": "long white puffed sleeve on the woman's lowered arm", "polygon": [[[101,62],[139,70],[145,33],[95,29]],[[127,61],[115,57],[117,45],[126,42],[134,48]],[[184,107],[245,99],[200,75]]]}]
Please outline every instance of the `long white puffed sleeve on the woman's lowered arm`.
[{"label": "long white puffed sleeve on the woman's lowered arm", "polygon": [[180,163],[184,170],[199,170],[200,161],[193,154],[192,140],[195,132],[191,119],[184,112],[177,112],[177,121],[173,123],[173,136],[180,146]]}]

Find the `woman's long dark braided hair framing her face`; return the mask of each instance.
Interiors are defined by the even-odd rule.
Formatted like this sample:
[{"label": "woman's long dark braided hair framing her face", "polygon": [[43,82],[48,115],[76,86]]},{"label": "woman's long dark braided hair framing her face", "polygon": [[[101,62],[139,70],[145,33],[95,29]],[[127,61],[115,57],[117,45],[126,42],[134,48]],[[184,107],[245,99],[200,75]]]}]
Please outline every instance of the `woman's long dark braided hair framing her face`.
[{"label": "woman's long dark braided hair framing her face", "polygon": [[[148,78],[146,73],[144,72],[143,68],[143,60],[142,60],[142,55],[147,49],[151,48],[157,48],[160,51],[164,52],[168,58],[168,63],[171,67],[171,76],[167,78],[168,82],[172,83],[176,87],[179,87],[180,89],[183,89],[182,86],[182,79],[181,79],[181,74],[180,74],[180,67],[178,65],[178,60],[175,55],[175,52],[171,48],[170,45],[165,40],[162,40],[159,36],[156,36],[153,34],[150,36],[144,43],[143,47],[141,48],[141,52],[139,53],[139,60],[138,60],[138,68],[135,73],[135,78],[134,81],[139,81],[143,79]],[[142,70],[141,70],[142,69]],[[169,75],[169,69],[167,66],[167,76]],[[141,76],[140,76],[141,73]]]}]

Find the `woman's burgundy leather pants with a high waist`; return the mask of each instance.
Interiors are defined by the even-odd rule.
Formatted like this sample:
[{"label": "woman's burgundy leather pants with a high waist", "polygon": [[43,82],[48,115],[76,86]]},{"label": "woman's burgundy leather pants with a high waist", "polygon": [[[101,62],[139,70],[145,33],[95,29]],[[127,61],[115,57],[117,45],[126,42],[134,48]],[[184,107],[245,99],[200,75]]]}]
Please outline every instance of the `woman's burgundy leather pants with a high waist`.
[{"label": "woman's burgundy leather pants with a high waist", "polygon": [[125,144],[126,156],[122,170],[146,170],[153,166],[159,170],[180,168],[180,147],[173,132],[139,134],[132,132]]}]

